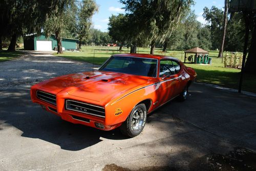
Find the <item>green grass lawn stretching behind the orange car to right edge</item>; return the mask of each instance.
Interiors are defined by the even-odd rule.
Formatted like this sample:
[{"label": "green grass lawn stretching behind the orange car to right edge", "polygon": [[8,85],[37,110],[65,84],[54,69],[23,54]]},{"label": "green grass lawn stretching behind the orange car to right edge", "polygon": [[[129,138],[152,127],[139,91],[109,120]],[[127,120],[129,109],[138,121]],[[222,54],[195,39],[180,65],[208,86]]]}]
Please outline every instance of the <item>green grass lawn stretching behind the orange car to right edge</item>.
[{"label": "green grass lawn stretching behind the orange car to right edge", "polygon": [[[63,54],[55,55],[101,65],[113,54],[129,52],[129,49],[125,47],[122,52],[119,52],[118,49],[118,47],[82,47],[81,52],[64,52]],[[162,53],[161,50],[162,49],[156,48],[155,54],[173,56],[184,61],[183,51],[167,51],[166,53]],[[149,54],[150,48],[138,48],[137,51],[138,53]],[[209,51],[209,57],[212,58],[212,65],[210,66],[189,63],[186,63],[185,65],[196,70],[198,74],[197,82],[217,84],[226,88],[238,89],[241,70],[224,68],[224,64],[221,62],[220,58],[217,58],[217,56],[218,51]],[[256,93],[255,87],[256,76],[248,74],[244,75],[242,90]]]}]

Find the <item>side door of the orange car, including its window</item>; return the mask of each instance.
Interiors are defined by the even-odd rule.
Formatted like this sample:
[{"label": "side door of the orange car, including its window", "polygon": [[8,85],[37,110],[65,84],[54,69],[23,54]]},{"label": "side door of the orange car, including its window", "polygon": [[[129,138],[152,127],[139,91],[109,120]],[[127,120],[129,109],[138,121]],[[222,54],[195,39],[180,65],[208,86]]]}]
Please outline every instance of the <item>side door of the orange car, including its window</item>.
[{"label": "side door of the orange car, including its window", "polygon": [[180,66],[177,62],[170,59],[160,60],[159,69],[159,92],[158,103],[167,102],[168,100],[176,97],[180,93],[180,80],[178,75]]}]

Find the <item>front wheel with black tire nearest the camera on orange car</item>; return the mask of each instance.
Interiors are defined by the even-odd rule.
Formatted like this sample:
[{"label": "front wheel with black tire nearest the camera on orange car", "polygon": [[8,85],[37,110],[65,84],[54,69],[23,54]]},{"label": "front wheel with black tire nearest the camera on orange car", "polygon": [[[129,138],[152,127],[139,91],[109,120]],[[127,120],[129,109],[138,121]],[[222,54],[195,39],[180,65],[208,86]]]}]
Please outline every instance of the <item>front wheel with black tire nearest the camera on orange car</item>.
[{"label": "front wheel with black tire nearest the camera on orange car", "polygon": [[127,119],[120,126],[122,134],[129,137],[139,135],[145,126],[146,114],[145,104],[136,105]]}]

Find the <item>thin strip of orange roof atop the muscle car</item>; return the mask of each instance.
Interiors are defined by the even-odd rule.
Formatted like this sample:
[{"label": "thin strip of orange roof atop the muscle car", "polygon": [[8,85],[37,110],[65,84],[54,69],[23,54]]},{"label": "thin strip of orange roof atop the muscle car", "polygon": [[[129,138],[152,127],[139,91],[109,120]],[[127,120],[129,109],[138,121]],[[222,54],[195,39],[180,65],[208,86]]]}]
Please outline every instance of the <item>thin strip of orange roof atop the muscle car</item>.
[{"label": "thin strip of orange roof atop the muscle car", "polygon": [[139,53],[121,53],[112,56],[128,56],[128,57],[140,57],[140,58],[152,58],[152,59],[174,59],[179,60],[175,57],[165,55],[151,55],[151,54],[139,54]]}]

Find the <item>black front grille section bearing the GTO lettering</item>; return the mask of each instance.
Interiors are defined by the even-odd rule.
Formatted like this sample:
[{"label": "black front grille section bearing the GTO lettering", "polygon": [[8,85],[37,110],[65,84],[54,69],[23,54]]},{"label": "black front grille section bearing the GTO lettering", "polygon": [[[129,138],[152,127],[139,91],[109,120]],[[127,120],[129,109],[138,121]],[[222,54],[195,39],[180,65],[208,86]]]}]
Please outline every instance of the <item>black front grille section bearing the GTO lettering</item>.
[{"label": "black front grille section bearing the GTO lettering", "polygon": [[103,107],[80,101],[66,100],[66,110],[76,111],[102,118],[105,117],[105,109]]}]

